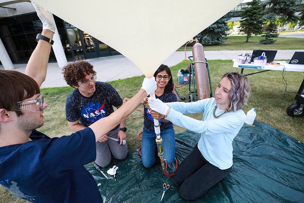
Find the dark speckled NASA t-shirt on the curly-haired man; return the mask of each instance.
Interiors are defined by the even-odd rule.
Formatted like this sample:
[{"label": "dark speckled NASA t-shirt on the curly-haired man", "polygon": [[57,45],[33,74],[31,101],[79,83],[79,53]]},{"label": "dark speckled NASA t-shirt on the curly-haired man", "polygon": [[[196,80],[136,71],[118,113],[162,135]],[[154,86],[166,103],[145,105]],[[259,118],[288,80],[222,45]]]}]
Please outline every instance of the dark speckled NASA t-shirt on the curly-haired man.
[{"label": "dark speckled NASA t-shirt on the curly-haired man", "polygon": [[[95,121],[107,117],[114,112],[113,106],[123,104],[123,100],[110,84],[96,82],[95,92],[90,97],[83,96],[75,89],[68,97],[65,106],[67,121],[83,124],[88,127]],[[114,129],[118,128],[116,126]],[[114,130],[113,129],[113,130]]]}]

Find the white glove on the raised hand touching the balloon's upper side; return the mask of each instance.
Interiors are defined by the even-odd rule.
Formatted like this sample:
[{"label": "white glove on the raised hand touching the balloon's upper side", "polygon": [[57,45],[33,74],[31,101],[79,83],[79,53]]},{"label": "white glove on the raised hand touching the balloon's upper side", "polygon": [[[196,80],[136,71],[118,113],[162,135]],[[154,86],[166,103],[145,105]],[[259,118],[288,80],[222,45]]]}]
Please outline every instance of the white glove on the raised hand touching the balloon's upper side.
[{"label": "white glove on the raised hand touching the balloon's upper side", "polygon": [[55,23],[52,17],[50,16],[50,13],[44,10],[40,5],[37,5],[35,2],[32,2],[32,4],[37,12],[37,16],[42,22],[42,29],[50,30],[55,33]]}]

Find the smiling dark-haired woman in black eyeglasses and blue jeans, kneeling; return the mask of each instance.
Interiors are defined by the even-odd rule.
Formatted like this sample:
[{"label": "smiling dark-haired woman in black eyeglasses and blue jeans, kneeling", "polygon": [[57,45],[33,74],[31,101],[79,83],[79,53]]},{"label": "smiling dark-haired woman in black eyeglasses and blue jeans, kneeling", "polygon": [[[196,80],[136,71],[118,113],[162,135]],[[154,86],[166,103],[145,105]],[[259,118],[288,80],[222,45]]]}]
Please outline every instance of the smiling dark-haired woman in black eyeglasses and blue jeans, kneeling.
[{"label": "smiling dark-haired woman in black eyeglasses and blue jeans, kneeling", "polygon": [[[157,84],[155,91],[155,97],[167,102],[176,102],[177,97],[173,91],[173,79],[172,74],[167,65],[161,65],[156,72],[154,77]],[[148,96],[149,97],[149,96]],[[143,100],[142,104],[147,104],[147,98]],[[143,140],[141,143],[141,161],[147,168],[151,167],[155,163],[155,157],[157,156],[155,148],[155,132],[154,122],[151,117],[150,110],[144,108],[144,121],[143,121]],[[172,163],[175,159],[175,135],[173,124],[164,119],[164,117],[157,117],[161,128],[161,138],[163,139],[164,147],[164,159],[168,164]]]}]

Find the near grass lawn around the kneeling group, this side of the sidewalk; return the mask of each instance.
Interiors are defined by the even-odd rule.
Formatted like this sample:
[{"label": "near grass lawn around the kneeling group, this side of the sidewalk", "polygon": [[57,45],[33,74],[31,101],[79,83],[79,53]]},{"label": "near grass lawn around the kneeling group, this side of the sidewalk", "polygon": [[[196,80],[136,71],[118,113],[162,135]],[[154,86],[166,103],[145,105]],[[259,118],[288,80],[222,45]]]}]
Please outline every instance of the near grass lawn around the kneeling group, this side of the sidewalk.
[{"label": "near grass lawn around the kneeling group, this side of the sidewalk", "polygon": [[[290,39],[290,38],[289,38]],[[212,79],[213,93],[216,84],[220,81],[221,76],[226,72],[239,71],[239,68],[232,67],[231,60],[210,60],[209,68]],[[177,82],[177,72],[179,69],[185,69],[186,62],[183,61],[178,65],[171,67],[173,79]],[[252,72],[245,70],[244,74]],[[304,142],[304,117],[293,118],[286,114],[286,108],[295,101],[293,100],[295,94],[286,93],[284,97],[285,87],[282,83],[282,71],[270,71],[248,76],[251,82],[251,97],[249,103],[244,107],[244,112],[247,113],[251,108],[257,111],[256,120],[267,123],[286,134]],[[288,83],[287,91],[297,92],[303,80],[304,73],[302,72],[286,72],[285,79]],[[109,82],[120,94],[122,98],[133,96],[141,87],[143,76],[116,80]],[[67,96],[73,91],[71,87],[60,88],[44,88],[42,89],[45,95],[45,101],[49,107],[44,111],[44,125],[39,131],[42,131],[50,137],[60,137],[61,135],[70,135],[72,131],[67,126],[65,120],[65,100]],[[188,86],[178,88],[180,95],[185,96],[188,100]],[[139,106],[143,109],[143,106]],[[134,111],[129,117],[141,116],[140,111]],[[188,116],[195,119],[202,119],[202,113],[189,114]],[[127,144],[128,149],[138,149],[141,145],[137,134],[143,129],[143,118],[128,119],[126,121],[127,130]],[[184,128],[174,126],[175,133],[185,131]],[[22,199],[16,198],[4,187],[0,187],[0,202],[26,202]]]}]

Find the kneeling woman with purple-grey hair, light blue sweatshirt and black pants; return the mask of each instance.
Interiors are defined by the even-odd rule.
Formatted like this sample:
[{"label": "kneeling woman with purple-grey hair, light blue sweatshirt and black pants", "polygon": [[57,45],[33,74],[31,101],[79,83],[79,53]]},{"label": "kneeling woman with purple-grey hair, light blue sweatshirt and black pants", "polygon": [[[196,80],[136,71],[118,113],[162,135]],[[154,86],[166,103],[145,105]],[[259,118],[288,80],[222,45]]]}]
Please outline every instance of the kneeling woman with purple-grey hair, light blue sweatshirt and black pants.
[{"label": "kneeling woman with purple-grey hair, light blue sweatshirt and black pants", "polygon": [[[173,176],[183,198],[199,198],[230,172],[232,141],[245,122],[242,107],[247,103],[249,93],[249,80],[231,72],[223,75],[214,98],[191,103],[163,103],[149,98],[152,117],[159,117],[160,113],[176,125],[201,133],[199,142]],[[183,115],[198,112],[204,113],[202,121]]]}]

